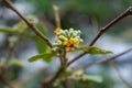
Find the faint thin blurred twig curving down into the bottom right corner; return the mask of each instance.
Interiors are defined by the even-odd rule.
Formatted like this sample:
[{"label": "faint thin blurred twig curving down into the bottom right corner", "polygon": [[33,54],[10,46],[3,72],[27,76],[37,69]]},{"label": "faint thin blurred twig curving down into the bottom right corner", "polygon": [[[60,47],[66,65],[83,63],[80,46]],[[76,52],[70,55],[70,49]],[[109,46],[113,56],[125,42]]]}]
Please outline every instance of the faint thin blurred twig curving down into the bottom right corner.
[{"label": "faint thin blurred twig curving down into the bottom right corner", "polygon": [[111,66],[116,69],[119,78],[122,80],[123,84],[125,84],[128,86],[128,88],[132,88],[132,85],[130,85],[121,75],[121,72],[119,69],[119,67],[113,63],[113,62],[110,62]]}]

